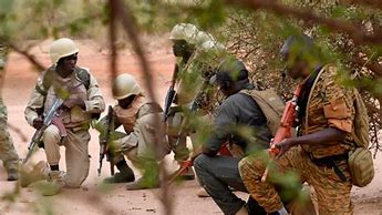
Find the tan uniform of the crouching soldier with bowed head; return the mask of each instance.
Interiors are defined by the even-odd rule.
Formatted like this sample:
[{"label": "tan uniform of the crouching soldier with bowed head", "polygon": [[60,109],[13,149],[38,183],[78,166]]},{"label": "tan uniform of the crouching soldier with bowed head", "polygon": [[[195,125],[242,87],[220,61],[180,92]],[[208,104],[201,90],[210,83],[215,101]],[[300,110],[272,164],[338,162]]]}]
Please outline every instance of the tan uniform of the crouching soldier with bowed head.
[{"label": "tan uniform of the crouching soldier with bowed head", "polygon": [[[162,136],[158,145],[155,144],[155,115],[163,119],[158,104],[148,102],[143,95],[134,99],[128,109],[120,105],[113,108],[115,113],[114,126],[123,126],[126,134],[113,141],[113,162],[123,160],[123,154],[138,165],[141,160],[162,160],[171,152],[165,136]],[[101,121],[101,124],[104,122]],[[154,152],[155,150],[155,152]]]}]

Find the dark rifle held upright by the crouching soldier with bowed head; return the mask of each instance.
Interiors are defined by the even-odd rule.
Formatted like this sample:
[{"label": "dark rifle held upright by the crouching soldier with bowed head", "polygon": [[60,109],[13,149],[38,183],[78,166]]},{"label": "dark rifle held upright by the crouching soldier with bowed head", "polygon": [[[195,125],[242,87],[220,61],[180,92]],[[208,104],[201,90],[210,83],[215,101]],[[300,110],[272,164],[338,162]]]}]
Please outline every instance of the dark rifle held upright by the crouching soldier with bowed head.
[{"label": "dark rifle held upright by the crouching soldier with bowed head", "polygon": [[114,130],[113,108],[111,105],[109,105],[109,109],[107,109],[105,125],[106,125],[106,129],[105,131],[101,132],[101,136],[100,136],[100,166],[97,168],[99,176],[101,175],[102,161],[105,157],[105,155],[110,162],[110,172],[112,175],[114,175],[114,163],[110,157],[111,154],[110,154],[110,147],[109,147],[110,134]]}]

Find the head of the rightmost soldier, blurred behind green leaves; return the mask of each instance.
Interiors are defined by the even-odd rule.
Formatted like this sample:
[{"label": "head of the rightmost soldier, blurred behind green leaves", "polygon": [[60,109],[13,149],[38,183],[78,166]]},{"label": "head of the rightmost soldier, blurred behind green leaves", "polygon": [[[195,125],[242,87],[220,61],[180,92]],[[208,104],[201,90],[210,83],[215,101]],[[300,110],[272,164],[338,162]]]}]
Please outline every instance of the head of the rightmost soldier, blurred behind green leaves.
[{"label": "head of the rightmost soldier, blurred behind green leaves", "polygon": [[280,54],[286,71],[292,79],[304,78],[320,62],[320,51],[307,34],[290,35],[282,44]]}]

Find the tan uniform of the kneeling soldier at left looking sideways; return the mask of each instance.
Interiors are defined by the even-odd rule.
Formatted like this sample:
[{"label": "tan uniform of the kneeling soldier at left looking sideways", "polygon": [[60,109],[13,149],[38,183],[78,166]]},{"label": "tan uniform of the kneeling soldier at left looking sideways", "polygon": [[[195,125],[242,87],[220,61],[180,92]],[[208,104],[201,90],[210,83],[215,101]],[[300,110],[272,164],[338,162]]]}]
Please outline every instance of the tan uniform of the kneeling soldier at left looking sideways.
[{"label": "tan uniform of the kneeling soldier at left looking sideways", "polygon": [[[54,70],[54,66],[51,69]],[[76,68],[75,70],[85,69]],[[47,161],[50,165],[58,165],[60,163],[60,146],[65,146],[66,174],[63,183],[66,187],[76,188],[81,186],[89,174],[87,143],[91,137],[89,129],[92,114],[103,112],[105,103],[99,84],[92,74],[90,74],[89,88],[84,85],[78,73],[73,72],[68,78],[61,78],[55,74],[52,81],[53,84],[49,89],[44,89],[43,75],[45,73],[42,73],[38,79],[24,111],[25,119],[30,125],[33,126],[33,120],[39,116],[39,109],[43,108],[44,114],[47,114],[54,100],[60,96],[58,93],[60,91],[61,93],[69,92],[69,99],[82,99],[85,103],[85,110],[74,106],[70,111],[61,113],[68,136],[61,137],[59,129],[53,124],[43,133]],[[43,90],[47,91],[47,95],[43,95]]]}]

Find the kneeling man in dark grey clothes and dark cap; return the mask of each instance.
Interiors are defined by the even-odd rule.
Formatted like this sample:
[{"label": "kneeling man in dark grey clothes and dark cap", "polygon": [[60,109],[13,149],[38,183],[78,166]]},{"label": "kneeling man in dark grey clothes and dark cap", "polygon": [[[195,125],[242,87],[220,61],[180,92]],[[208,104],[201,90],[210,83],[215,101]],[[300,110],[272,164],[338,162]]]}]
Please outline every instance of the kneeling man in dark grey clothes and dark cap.
[{"label": "kneeling man in dark grey clothes and dark cap", "polygon": [[[267,119],[255,100],[240,93],[255,88],[249,82],[248,71],[242,62],[234,59],[223,61],[216,74],[216,83],[226,99],[217,111],[211,135],[203,145],[203,153],[196,157],[194,166],[203,187],[224,214],[248,214],[246,203],[230,187],[247,192],[239,175],[238,163],[242,154],[248,155],[268,147],[271,133]],[[250,131],[251,139],[240,134],[239,130],[245,129]],[[228,141],[241,153],[234,156],[217,155],[221,145]],[[265,214],[256,204],[251,209],[255,209],[251,213]]]}]

